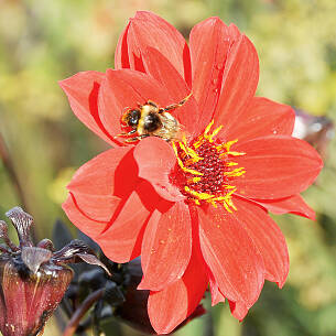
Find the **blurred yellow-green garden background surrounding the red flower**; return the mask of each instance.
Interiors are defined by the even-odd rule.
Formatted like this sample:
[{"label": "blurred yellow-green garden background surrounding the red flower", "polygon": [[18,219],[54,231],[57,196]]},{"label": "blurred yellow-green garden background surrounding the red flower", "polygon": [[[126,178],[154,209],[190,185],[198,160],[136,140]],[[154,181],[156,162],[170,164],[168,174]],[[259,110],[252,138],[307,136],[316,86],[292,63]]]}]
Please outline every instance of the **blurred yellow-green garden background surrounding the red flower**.
[{"label": "blurred yellow-green garden background surrounding the red flower", "polygon": [[[335,0],[0,0],[1,219],[22,205],[40,239],[51,237],[57,218],[74,229],[61,208],[65,185],[108,147],[75,118],[57,80],[113,67],[118,35],[140,9],[160,14],[186,37],[212,15],[236,23],[260,56],[258,95],[336,120]],[[328,131],[321,141],[330,138]],[[334,139],[323,173],[304,193],[317,220],[275,217],[291,258],[284,289],[267,283],[242,323],[220,304],[176,335],[336,335],[335,172]],[[45,335],[61,335],[53,319]],[[139,334],[121,325],[109,335]]]}]

